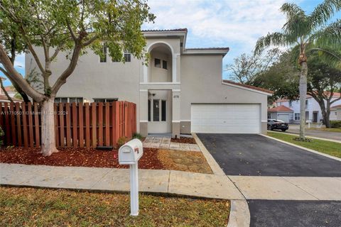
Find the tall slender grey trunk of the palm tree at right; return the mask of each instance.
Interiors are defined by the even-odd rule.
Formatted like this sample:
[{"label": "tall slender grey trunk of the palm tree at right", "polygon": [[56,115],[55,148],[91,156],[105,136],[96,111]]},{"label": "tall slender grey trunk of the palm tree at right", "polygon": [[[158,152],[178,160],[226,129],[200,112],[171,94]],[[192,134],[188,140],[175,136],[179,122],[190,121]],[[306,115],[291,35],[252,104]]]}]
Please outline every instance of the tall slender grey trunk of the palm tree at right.
[{"label": "tall slender grey trunk of the palm tree at right", "polygon": [[300,138],[305,139],[305,99],[307,96],[307,75],[308,65],[307,62],[301,62],[301,74],[300,74]]}]

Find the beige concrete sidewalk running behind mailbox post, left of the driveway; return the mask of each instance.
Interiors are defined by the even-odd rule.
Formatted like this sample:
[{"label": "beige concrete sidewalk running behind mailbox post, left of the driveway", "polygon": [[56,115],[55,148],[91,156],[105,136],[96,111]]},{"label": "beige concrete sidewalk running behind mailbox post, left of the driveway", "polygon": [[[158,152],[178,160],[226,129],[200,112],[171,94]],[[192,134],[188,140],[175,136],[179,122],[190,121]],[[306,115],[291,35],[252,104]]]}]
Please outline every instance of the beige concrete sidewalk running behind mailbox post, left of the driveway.
[{"label": "beige concrete sidewalk running behind mailbox post, left of the driveway", "polygon": [[[0,163],[0,184],[11,186],[129,192],[129,170]],[[244,199],[226,176],[175,170],[139,170],[140,192],[215,199]]]}]

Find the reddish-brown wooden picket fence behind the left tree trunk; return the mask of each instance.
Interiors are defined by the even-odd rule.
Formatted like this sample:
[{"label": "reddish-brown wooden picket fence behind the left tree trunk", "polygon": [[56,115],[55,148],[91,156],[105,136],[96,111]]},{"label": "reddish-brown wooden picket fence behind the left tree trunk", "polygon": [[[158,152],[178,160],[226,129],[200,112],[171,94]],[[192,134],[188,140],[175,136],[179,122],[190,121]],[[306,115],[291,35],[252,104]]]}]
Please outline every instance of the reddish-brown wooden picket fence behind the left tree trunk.
[{"label": "reddish-brown wooden picket fence behind the left tree trunk", "polygon": [[[57,147],[117,147],[121,137],[131,138],[136,132],[136,104],[59,103],[55,109],[55,143]],[[40,146],[40,106],[36,103],[1,103],[0,126],[4,145]]]}]

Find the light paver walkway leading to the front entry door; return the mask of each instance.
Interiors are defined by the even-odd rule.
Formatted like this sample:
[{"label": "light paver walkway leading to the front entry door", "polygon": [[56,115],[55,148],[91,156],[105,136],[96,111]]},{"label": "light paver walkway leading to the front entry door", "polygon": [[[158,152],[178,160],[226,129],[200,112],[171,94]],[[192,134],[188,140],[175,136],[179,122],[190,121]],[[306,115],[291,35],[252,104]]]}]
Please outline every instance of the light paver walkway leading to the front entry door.
[{"label": "light paver walkway leading to the front entry door", "polygon": [[196,144],[173,143],[169,137],[147,136],[144,140],[144,148],[163,148],[171,150],[200,151]]}]

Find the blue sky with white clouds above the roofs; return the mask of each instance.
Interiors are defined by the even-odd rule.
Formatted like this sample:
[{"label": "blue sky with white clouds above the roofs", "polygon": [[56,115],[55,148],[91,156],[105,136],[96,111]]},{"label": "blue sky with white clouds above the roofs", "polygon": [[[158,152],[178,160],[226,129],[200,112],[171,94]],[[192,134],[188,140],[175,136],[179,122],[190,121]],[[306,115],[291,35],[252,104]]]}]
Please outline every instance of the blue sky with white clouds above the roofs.
[{"label": "blue sky with white clouds above the roofs", "polygon": [[[234,57],[251,53],[262,35],[281,31],[286,21],[279,11],[288,0],[149,0],[155,23],[143,29],[188,28],[186,48],[229,47],[223,71]],[[323,0],[291,0],[307,13]],[[341,18],[337,13],[332,21]],[[16,69],[24,74],[25,57],[16,59]],[[0,74],[1,75],[1,74]],[[228,72],[223,72],[228,77]],[[8,81],[4,82],[9,85]]]}]

